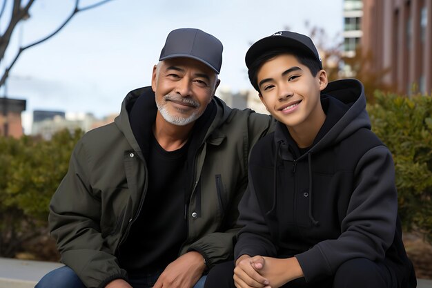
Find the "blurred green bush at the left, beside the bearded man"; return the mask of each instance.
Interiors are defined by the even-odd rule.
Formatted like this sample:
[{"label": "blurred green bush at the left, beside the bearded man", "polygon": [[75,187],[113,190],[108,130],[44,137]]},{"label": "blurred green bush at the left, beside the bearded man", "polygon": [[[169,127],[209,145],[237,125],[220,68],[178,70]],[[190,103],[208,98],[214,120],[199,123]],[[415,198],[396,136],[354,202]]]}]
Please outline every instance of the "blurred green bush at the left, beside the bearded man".
[{"label": "blurred green bush at the left, beside the bearded man", "polygon": [[23,243],[47,233],[48,204],[81,135],[0,137],[0,256],[14,257]]}]

